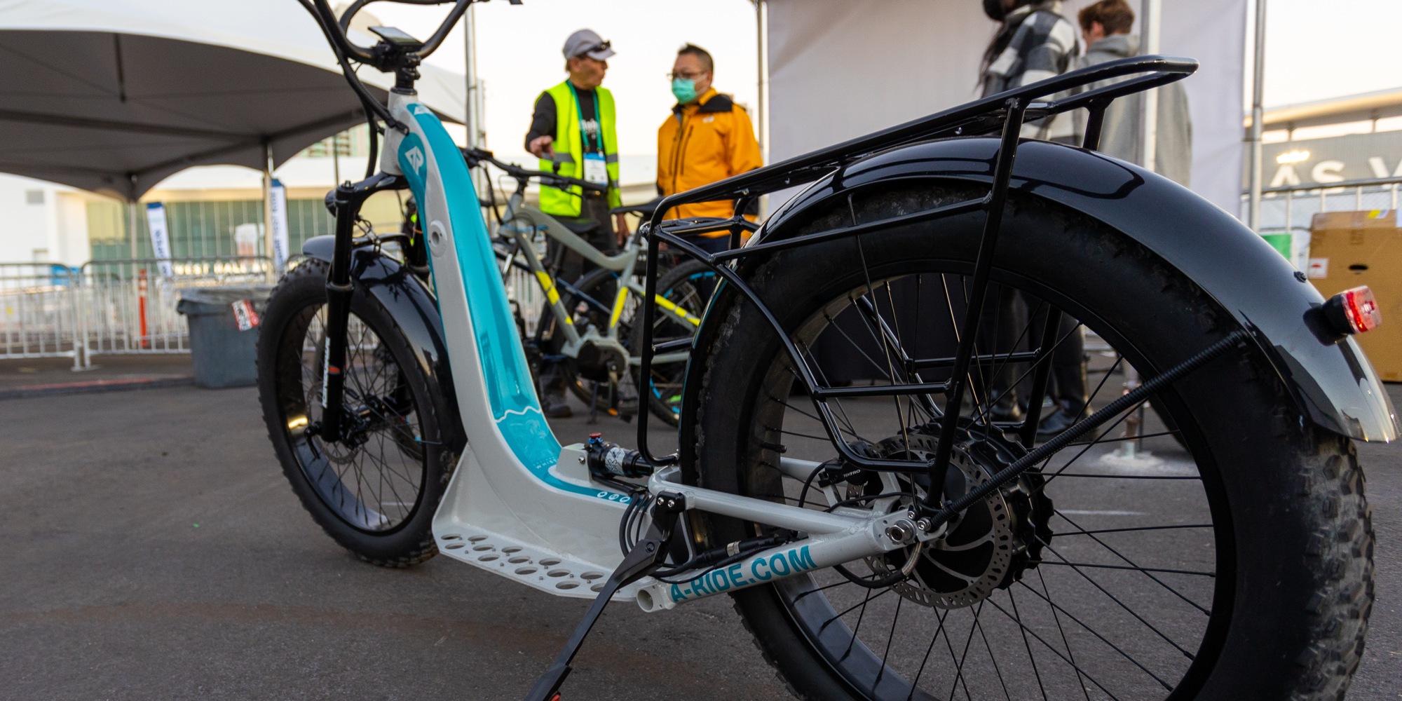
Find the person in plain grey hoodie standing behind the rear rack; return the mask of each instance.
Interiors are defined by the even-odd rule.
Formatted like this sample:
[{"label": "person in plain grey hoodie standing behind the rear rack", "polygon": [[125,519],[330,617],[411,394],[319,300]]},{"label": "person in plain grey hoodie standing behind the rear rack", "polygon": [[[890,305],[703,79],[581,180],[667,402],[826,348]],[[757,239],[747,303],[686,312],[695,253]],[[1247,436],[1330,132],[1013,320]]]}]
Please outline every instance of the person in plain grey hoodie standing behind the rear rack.
[{"label": "person in plain grey hoodie standing behind the rear rack", "polygon": [[[1081,36],[1085,38],[1085,56],[1077,67],[1094,66],[1109,60],[1127,59],[1138,55],[1138,36],[1130,34],[1134,25],[1134,10],[1124,0],[1101,0],[1081,8],[1077,15]],[[1094,83],[1081,90],[1095,90],[1123,79]],[[1193,167],[1193,122],[1187,114],[1187,93],[1182,83],[1171,83],[1155,88],[1158,95],[1158,119],[1154,129],[1154,163],[1144,163],[1143,118],[1144,94],[1126,95],[1105,109],[1101,126],[1098,151],[1120,160],[1145,165],[1154,172],[1179,185],[1187,185]],[[1085,135],[1087,112],[1077,109],[1075,133]]]}]

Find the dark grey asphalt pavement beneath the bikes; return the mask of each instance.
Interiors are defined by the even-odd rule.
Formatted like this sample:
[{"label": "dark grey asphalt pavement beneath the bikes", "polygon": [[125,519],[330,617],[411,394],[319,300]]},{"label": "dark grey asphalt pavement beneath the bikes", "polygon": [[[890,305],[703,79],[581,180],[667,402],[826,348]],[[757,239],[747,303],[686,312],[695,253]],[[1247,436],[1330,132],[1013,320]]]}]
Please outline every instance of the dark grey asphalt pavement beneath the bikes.
[{"label": "dark grey asphalt pavement beneath the bikes", "polygon": [[[635,428],[555,430],[632,443]],[[1350,698],[1399,698],[1402,450],[1360,454],[1378,594]],[[252,388],[3,400],[0,485],[0,698],[512,700],[587,606],[447,558],[356,561],[289,491]],[[565,698],[789,695],[712,597],[610,607]]]}]

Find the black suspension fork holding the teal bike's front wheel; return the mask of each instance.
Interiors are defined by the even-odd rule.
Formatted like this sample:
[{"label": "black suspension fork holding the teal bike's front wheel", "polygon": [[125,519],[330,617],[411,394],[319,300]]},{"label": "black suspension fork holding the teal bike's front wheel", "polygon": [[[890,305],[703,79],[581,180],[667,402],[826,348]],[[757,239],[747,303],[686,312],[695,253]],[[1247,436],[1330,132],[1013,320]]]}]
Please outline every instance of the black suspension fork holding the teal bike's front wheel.
[{"label": "black suspension fork holding the teal bike's front wheel", "polygon": [[355,290],[350,271],[350,252],[355,245],[355,223],[360,206],[370,195],[381,189],[402,189],[407,181],[401,175],[380,172],[360,182],[336,185],[335,193],[335,248],[331,254],[331,272],[327,275],[327,348],[321,363],[321,439],[336,442],[342,437],[342,416],[345,414],[345,360],[346,329],[350,324],[350,294]]}]

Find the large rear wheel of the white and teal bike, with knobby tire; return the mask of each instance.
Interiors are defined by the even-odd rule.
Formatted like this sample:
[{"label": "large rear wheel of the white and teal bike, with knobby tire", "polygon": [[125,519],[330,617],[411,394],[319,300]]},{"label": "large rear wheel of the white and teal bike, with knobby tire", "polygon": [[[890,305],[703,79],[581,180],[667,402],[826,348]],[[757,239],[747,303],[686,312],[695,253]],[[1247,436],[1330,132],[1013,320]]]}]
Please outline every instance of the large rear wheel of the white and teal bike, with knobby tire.
[{"label": "large rear wheel of the white and teal bike, with knobby tire", "polygon": [[[812,230],[980,195],[914,186],[857,195],[852,209],[844,200]],[[939,381],[938,372],[911,376],[904,360],[953,355],[981,226],[981,215],[967,215],[827,241],[747,262],[742,273],[822,386]],[[1235,328],[1148,251],[1032,198],[1008,206],[993,282],[1016,290],[1029,320],[1049,308],[1081,320],[1145,379]],[[795,370],[773,328],[737,294],[716,303],[725,322],[697,350],[702,386],[680,440],[690,479],[873,513],[928,492],[921,470],[857,471],[834,484],[781,471],[781,453],[824,461],[836,450],[812,398],[791,394]],[[997,313],[986,318],[1002,324]],[[1019,327],[1008,335],[1019,342],[976,348],[974,397],[959,409],[952,467],[939,475],[946,496],[1028,450],[986,411],[1018,374],[1035,376],[1012,353],[1036,348],[1039,334]],[[1008,366],[1016,372],[1000,386]],[[1122,369],[1092,367],[1102,372],[1092,408],[1119,394]],[[841,440],[923,465],[938,447],[942,400],[829,405]],[[1352,443],[1301,421],[1253,350],[1213,360],[1158,393],[1155,407],[1187,446],[1165,465],[1099,460],[1116,444],[1122,414],[967,509],[932,547],[744,589],[736,608],[809,700],[1342,698],[1373,603],[1373,530]],[[1155,440],[1173,451],[1169,436]],[[760,533],[712,517],[704,536],[714,547]],[[908,576],[880,586],[906,565]]]}]

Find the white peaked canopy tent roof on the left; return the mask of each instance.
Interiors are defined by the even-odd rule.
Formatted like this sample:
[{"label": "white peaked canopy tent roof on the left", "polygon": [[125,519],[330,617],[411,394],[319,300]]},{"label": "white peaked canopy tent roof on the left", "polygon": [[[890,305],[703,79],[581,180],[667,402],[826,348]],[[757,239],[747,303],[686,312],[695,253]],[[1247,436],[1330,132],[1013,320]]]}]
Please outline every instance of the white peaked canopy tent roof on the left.
[{"label": "white peaked canopy tent roof on the left", "polygon": [[[191,165],[266,171],[365,121],[292,0],[0,0],[0,171],[126,200]],[[421,72],[423,102],[461,122],[463,77]]]}]

